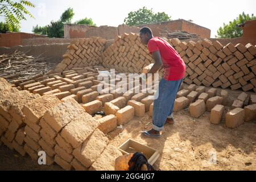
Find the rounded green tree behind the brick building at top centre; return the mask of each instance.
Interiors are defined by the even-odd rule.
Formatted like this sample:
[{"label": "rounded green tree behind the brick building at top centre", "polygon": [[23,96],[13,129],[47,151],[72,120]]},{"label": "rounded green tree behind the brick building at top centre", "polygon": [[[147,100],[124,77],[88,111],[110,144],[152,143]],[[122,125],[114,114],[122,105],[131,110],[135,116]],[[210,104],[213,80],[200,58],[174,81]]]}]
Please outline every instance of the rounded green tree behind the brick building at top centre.
[{"label": "rounded green tree behind the brick building at top centre", "polygon": [[166,13],[154,13],[152,9],[148,10],[146,7],[143,7],[137,11],[131,11],[124,22],[129,26],[138,26],[146,23],[165,22],[169,20],[171,20],[171,16]]}]

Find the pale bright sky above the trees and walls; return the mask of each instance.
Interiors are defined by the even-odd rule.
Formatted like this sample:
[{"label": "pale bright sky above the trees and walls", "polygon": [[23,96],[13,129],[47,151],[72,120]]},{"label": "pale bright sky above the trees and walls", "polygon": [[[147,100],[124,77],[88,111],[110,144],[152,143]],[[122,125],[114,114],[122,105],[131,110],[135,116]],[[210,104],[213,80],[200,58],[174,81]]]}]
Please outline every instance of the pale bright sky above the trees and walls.
[{"label": "pale bright sky above the trees and walls", "polygon": [[[211,38],[223,23],[229,23],[238,14],[256,14],[256,0],[30,0],[36,8],[28,9],[35,19],[27,18],[21,23],[22,32],[32,32],[38,24],[45,26],[51,20],[58,20],[60,15],[72,7],[75,13],[72,22],[82,18],[92,18],[97,26],[115,26],[123,23],[130,11],[137,11],[143,6],[154,13],[164,12],[175,19],[192,19],[193,23],[209,28]],[[3,20],[3,18],[0,18]]]}]

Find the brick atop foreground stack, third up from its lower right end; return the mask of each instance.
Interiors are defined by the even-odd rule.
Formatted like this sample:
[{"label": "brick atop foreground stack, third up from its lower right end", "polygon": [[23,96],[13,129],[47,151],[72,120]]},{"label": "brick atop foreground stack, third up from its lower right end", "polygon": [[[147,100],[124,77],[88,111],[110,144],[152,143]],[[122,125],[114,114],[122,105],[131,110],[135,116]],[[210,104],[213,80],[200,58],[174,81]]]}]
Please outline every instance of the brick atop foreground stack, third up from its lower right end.
[{"label": "brick atop foreground stack, third up from its lower right end", "polygon": [[63,137],[73,148],[78,147],[98,127],[98,122],[88,113],[78,115],[61,131]]}]

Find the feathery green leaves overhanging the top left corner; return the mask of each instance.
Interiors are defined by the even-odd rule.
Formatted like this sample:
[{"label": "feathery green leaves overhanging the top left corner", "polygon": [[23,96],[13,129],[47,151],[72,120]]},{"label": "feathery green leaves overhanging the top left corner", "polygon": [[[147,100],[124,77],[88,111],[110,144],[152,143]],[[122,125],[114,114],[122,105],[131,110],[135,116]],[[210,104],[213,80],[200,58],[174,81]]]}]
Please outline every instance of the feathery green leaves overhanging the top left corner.
[{"label": "feathery green leaves overhanging the top left corner", "polygon": [[26,7],[35,7],[30,1],[20,0],[0,0],[0,16],[4,16],[6,26],[9,31],[13,31],[14,27],[20,28],[20,21],[27,20],[26,15],[34,18]]}]

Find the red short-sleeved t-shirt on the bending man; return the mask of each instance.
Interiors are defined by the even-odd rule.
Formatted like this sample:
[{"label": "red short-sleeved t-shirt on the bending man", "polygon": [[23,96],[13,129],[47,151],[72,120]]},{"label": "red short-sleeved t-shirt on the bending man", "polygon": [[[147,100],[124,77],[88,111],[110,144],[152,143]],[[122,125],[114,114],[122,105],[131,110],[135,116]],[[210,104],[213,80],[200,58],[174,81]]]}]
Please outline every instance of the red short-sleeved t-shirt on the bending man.
[{"label": "red short-sleeved t-shirt on the bending man", "polygon": [[150,54],[159,51],[164,65],[164,79],[168,81],[181,80],[185,76],[186,65],[179,53],[164,39],[154,37],[148,41]]}]

